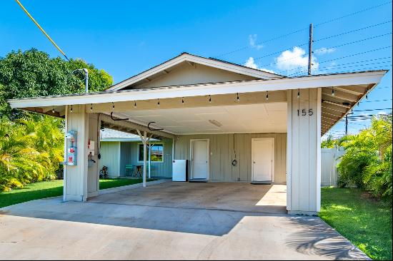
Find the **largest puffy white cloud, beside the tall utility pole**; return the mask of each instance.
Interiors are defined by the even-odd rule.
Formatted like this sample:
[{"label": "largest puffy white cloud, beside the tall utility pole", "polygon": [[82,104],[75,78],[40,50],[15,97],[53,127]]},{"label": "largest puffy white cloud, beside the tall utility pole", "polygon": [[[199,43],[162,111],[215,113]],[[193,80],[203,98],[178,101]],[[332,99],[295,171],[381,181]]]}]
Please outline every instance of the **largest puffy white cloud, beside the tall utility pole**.
[{"label": "largest puffy white cloud, beside the tall utility pole", "polygon": [[[291,50],[283,51],[276,58],[277,68],[280,70],[291,70],[294,68],[307,68],[309,63],[309,56],[306,54],[304,49],[294,46]],[[312,57],[312,69],[317,70],[319,67],[319,63],[317,63],[317,58],[315,56]]]}]

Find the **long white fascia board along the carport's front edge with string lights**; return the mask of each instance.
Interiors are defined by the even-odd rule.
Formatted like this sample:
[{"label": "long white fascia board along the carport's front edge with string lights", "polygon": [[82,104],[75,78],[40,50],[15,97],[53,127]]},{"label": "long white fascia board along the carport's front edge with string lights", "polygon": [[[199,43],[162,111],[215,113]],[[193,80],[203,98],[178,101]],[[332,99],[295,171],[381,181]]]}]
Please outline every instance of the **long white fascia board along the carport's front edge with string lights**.
[{"label": "long white fascia board along the carport's front edge with string lights", "polygon": [[379,83],[386,71],[347,73],[330,76],[307,76],[274,80],[236,81],[204,83],[190,86],[169,86],[126,91],[81,93],[69,96],[50,96],[9,100],[11,108],[64,106],[72,104],[109,103],[118,101],[141,101],[156,98],[179,98],[228,93],[250,93],[257,91],[282,91],[302,88],[352,86]]}]

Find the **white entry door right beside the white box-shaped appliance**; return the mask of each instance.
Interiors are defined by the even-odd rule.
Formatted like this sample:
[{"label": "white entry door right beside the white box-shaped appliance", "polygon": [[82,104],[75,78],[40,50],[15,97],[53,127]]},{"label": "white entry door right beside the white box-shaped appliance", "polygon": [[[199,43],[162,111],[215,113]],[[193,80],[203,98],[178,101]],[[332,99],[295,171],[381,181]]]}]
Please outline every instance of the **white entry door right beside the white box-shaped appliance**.
[{"label": "white entry door right beside the white box-shaped appliance", "polygon": [[191,178],[209,179],[209,140],[191,140]]}]

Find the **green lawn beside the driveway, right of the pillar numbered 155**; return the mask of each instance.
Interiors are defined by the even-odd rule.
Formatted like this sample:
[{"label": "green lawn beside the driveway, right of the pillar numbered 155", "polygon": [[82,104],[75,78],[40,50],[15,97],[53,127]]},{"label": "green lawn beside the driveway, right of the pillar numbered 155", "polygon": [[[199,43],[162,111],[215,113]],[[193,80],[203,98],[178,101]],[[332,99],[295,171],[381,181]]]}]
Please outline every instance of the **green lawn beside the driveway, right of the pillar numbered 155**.
[{"label": "green lawn beside the driveway, right of the pillar numbered 155", "polygon": [[392,207],[358,188],[322,188],[319,217],[374,260],[392,260]]}]

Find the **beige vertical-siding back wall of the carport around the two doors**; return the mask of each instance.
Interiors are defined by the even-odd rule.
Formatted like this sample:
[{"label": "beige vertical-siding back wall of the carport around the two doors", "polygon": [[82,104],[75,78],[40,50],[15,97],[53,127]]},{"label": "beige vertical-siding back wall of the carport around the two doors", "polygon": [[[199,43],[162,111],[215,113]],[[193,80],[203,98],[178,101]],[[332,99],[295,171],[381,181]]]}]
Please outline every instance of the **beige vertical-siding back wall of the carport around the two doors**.
[{"label": "beige vertical-siding back wall of the carport around the two doors", "polygon": [[[274,138],[274,182],[286,182],[287,133],[181,135],[176,140],[174,159],[189,160],[190,140],[198,138],[208,138],[210,142],[210,180],[224,182],[250,182],[252,138]],[[236,166],[232,165],[234,147]]]}]

